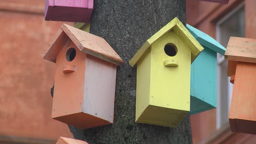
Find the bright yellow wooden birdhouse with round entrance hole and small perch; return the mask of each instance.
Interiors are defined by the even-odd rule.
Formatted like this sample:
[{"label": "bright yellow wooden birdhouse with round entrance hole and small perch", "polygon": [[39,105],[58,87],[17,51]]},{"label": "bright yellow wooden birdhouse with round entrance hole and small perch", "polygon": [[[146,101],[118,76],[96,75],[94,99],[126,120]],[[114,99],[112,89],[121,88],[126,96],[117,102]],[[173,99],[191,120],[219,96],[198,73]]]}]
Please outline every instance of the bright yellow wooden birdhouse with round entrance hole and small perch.
[{"label": "bright yellow wooden birdhouse with round entrance hole and small perch", "polygon": [[203,47],[174,18],[130,60],[137,64],[136,122],[177,127],[190,109],[190,64]]}]

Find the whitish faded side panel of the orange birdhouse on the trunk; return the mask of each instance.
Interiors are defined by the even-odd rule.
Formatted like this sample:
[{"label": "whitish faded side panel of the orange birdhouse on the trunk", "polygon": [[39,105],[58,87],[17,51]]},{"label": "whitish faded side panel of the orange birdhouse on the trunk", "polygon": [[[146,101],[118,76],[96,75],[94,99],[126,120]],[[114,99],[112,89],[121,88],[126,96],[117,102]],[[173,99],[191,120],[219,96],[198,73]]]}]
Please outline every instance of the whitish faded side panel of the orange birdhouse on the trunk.
[{"label": "whitish faded side panel of the orange birdhouse on the trunk", "polygon": [[114,118],[117,66],[87,54],[83,112],[110,121]]}]

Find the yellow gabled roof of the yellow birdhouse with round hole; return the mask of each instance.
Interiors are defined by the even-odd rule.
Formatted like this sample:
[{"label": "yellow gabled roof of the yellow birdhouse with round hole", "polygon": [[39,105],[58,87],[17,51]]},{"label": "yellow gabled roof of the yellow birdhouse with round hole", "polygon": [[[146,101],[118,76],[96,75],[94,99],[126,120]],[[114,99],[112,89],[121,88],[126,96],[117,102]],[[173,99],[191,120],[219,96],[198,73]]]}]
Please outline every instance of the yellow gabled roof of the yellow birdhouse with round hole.
[{"label": "yellow gabled roof of the yellow birdhouse with round hole", "polygon": [[164,36],[166,33],[173,31],[176,35],[182,39],[184,44],[191,51],[191,63],[195,60],[198,54],[204,49],[201,44],[190,34],[190,32],[186,29],[186,27],[180,22],[180,20],[175,17],[172,21],[167,23],[163,28],[161,28],[158,32],[156,32],[151,38],[149,38],[139,49],[139,51],[133,56],[130,60],[130,65],[134,66],[139,59],[142,57],[144,52],[151,47],[151,45]]}]

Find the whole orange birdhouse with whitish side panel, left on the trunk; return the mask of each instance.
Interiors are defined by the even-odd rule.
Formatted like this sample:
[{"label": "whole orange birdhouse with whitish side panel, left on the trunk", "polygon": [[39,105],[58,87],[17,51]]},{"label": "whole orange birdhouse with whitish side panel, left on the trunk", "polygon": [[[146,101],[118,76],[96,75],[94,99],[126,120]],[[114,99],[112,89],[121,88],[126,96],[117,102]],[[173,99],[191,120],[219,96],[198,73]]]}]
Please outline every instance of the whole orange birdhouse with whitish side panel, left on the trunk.
[{"label": "whole orange birdhouse with whitish side panel, left on the trunk", "polygon": [[63,24],[42,57],[56,63],[53,119],[80,129],[113,123],[123,60],[103,38]]}]

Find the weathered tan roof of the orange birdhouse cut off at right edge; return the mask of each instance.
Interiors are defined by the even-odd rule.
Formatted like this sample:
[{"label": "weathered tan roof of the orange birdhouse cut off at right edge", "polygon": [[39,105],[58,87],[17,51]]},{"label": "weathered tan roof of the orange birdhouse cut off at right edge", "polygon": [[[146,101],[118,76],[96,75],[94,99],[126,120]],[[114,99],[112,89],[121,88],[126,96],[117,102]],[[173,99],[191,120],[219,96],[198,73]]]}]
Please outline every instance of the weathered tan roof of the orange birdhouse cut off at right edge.
[{"label": "weathered tan roof of the orange birdhouse cut off at right edge", "polygon": [[225,60],[256,63],[256,39],[230,37]]}]

